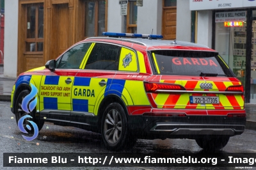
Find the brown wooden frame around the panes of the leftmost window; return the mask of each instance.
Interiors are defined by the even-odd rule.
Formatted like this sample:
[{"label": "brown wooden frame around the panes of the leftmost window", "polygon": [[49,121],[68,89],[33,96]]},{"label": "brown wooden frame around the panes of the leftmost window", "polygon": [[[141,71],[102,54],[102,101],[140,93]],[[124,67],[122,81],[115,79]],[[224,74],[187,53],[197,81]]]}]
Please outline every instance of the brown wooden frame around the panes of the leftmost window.
[{"label": "brown wooden frame around the panes of the leftmost window", "polygon": [[[36,6],[36,11],[35,11],[35,38],[28,38],[28,7],[29,6]],[[38,38],[38,8],[39,6],[44,6],[44,3],[31,3],[31,4],[27,4],[26,5],[26,36],[25,36],[25,52],[26,53],[37,53],[37,54],[43,54],[44,52],[44,36],[43,38]],[[45,6],[44,6],[44,16],[45,16]],[[45,18],[45,17],[44,17]],[[43,24],[45,24],[45,20],[43,19]],[[43,28],[44,31],[44,28]],[[43,43],[43,50],[42,51],[38,51],[38,42],[42,42]],[[30,51],[27,50],[27,43],[35,43],[35,50],[34,51]]]}]

